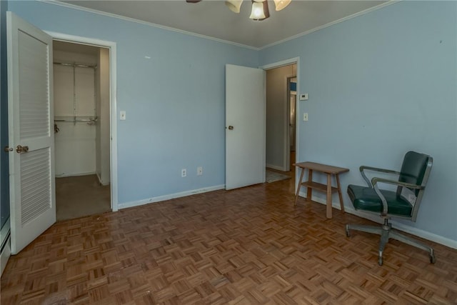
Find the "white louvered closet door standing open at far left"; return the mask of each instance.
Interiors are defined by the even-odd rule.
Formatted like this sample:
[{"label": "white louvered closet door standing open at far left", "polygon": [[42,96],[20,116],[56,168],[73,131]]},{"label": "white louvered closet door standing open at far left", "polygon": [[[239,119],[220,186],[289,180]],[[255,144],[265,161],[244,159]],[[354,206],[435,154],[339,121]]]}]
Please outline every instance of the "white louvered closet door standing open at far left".
[{"label": "white louvered closet door standing open at far left", "polygon": [[11,12],[7,39],[11,253],[17,254],[56,221],[52,39]]}]

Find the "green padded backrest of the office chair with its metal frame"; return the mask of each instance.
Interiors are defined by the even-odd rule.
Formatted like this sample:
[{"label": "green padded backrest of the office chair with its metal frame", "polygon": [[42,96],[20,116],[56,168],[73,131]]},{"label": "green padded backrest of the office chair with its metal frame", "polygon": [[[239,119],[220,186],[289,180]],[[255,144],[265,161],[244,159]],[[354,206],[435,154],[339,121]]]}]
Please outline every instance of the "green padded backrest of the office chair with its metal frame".
[{"label": "green padded backrest of the office chair with its metal frame", "polygon": [[[420,154],[416,151],[408,151],[403,158],[398,181],[423,186],[423,189],[410,189],[416,195],[416,201],[413,203],[411,220],[416,221],[419,205],[421,204],[423,191],[430,176],[433,158],[426,154]],[[399,186],[397,194],[401,194],[402,187]]]}]

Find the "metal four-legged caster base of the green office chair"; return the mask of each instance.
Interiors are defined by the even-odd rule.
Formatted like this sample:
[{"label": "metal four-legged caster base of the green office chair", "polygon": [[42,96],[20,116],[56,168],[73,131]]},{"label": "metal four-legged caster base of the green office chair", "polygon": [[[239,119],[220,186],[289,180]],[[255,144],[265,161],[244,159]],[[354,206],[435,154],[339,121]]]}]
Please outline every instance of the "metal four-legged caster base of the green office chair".
[{"label": "metal four-legged caster base of the green office chair", "polygon": [[405,244],[410,246],[415,246],[418,249],[422,249],[428,251],[428,255],[430,256],[430,262],[432,264],[436,263],[435,252],[433,248],[427,246],[426,244],[422,244],[420,241],[416,239],[412,239],[411,237],[405,236],[403,234],[399,234],[396,231],[392,230],[392,224],[388,222],[388,219],[384,219],[384,224],[381,226],[363,226],[358,224],[346,224],[346,236],[351,236],[349,230],[356,230],[356,231],[363,231],[367,233],[374,233],[381,235],[381,240],[379,241],[379,250],[378,250],[378,264],[382,266],[383,264],[383,251],[388,243],[389,239],[396,239],[397,241],[401,241]]}]

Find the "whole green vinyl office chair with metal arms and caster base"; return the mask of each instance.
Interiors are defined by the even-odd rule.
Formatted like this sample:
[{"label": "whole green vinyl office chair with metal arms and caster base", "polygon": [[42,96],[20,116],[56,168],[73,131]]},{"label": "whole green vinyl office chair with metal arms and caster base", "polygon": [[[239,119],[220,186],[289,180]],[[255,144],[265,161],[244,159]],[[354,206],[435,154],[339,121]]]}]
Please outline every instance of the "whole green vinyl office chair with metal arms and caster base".
[{"label": "whole green vinyl office chair with metal arms and caster base", "polygon": [[[416,221],[417,212],[423,191],[430,175],[433,159],[426,154],[419,154],[415,151],[408,151],[403,159],[400,171],[388,169],[377,169],[370,166],[360,166],[360,172],[367,186],[348,186],[348,195],[356,210],[368,211],[381,214],[384,224],[381,226],[361,226],[357,224],[346,224],[346,236],[350,236],[349,230],[358,230],[381,235],[379,242],[378,264],[383,264],[383,251],[388,239],[396,239],[403,243],[415,246],[428,251],[430,262],[435,264],[436,258],[433,249],[416,239],[399,234],[392,230],[392,224],[388,221],[391,218],[403,218]],[[371,181],[367,178],[365,171],[378,171],[385,174],[394,174],[398,180],[389,180],[373,177]],[[391,184],[396,186],[396,191],[379,189],[378,184]]]}]

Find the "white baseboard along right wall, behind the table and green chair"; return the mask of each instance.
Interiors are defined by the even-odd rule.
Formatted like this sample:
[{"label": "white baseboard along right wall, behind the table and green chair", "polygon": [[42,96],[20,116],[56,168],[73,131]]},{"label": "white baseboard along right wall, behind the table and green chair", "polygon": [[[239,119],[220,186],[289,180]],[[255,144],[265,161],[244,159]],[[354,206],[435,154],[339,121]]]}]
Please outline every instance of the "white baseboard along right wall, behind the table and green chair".
[{"label": "white baseboard along right wall, behind the table and green chair", "polygon": [[[300,196],[306,197],[306,192],[305,191],[300,191]],[[311,196],[311,200],[318,202],[319,204],[327,204],[327,201],[323,198],[319,198],[316,196]],[[332,206],[335,209],[341,210],[341,206],[339,202],[332,202]],[[378,217],[373,214],[368,214],[368,213],[363,213],[363,211],[356,211],[356,209],[353,209],[352,206],[344,206],[344,211],[349,214],[353,214],[359,217],[362,217],[364,219],[368,219],[374,222],[377,222],[378,224],[383,223],[383,219],[381,217]],[[457,241],[454,241],[452,239],[448,239],[447,237],[433,234],[428,231],[424,231],[422,229],[415,228],[413,226],[408,226],[406,224],[402,224],[398,221],[392,220],[392,226],[393,228],[397,229],[398,231],[403,231],[408,234],[412,234],[414,236],[421,237],[423,239],[427,239],[428,241],[433,241],[436,242],[437,244],[442,244],[443,246],[448,246],[449,248],[452,249],[457,249]]]}]

